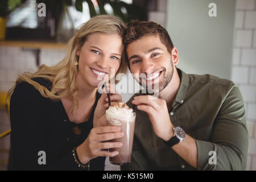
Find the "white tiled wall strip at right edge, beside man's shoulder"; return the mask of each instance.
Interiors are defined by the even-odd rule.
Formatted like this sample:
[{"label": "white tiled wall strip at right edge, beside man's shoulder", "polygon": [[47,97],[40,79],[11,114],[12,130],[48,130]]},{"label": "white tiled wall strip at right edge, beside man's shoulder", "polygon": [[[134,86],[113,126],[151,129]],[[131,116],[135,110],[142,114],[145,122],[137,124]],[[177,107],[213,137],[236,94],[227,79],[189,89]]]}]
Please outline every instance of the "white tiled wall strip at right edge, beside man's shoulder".
[{"label": "white tiled wall strip at right edge, beside man's shoulder", "polygon": [[237,0],[232,80],[246,106],[247,170],[256,170],[256,0]]}]

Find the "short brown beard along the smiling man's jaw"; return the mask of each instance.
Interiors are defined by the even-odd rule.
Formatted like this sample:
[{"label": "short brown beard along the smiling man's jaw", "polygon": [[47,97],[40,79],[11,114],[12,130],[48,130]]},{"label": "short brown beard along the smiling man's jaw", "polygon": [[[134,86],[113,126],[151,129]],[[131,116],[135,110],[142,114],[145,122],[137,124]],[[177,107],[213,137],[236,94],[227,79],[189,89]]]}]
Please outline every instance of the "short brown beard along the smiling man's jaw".
[{"label": "short brown beard along the smiling man's jaw", "polygon": [[148,93],[155,93],[155,92],[161,92],[166,86],[171,82],[172,75],[174,75],[174,65],[172,63],[172,60],[170,61],[169,67],[161,68],[163,69],[163,72],[161,74],[163,75],[162,81],[159,80],[159,82],[152,83],[151,81],[148,81],[147,83],[142,81],[142,79],[139,79],[139,84],[142,85],[144,88],[146,88]]}]

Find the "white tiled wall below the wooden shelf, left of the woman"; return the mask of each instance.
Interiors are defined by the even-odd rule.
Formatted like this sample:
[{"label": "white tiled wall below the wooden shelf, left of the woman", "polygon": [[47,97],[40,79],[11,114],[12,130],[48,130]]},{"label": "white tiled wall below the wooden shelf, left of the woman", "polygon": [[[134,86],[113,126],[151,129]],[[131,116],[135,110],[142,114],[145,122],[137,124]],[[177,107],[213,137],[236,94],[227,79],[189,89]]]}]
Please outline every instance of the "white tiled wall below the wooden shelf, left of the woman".
[{"label": "white tiled wall below the wooden shelf, left of the woman", "polygon": [[[62,60],[65,50],[43,48],[40,51],[40,64],[53,65]],[[0,46],[0,90],[7,91],[14,84],[18,74],[35,72],[36,56],[31,49]]]}]

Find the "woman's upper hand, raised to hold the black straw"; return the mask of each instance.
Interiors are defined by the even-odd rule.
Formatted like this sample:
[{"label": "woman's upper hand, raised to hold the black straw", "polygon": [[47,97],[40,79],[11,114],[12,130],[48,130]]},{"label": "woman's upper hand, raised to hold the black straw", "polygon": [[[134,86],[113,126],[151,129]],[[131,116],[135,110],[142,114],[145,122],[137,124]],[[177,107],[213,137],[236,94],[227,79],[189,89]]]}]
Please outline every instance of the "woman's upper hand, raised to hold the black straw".
[{"label": "woman's upper hand, raised to hold the black straw", "polygon": [[[117,102],[122,102],[122,96],[120,96],[115,90],[113,85],[106,84],[108,88],[108,92],[110,93],[110,104],[113,106],[117,104]],[[106,110],[109,108],[108,104],[108,96],[106,94],[106,89],[104,93],[101,94],[100,99],[98,100],[96,109],[93,115],[93,127],[106,126]]]}]

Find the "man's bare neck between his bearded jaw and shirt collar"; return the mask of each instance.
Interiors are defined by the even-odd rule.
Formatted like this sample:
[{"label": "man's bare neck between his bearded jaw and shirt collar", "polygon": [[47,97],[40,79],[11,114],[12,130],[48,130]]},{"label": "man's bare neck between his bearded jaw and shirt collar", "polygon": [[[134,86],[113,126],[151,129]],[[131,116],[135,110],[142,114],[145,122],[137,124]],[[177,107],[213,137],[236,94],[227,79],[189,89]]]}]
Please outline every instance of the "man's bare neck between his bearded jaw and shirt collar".
[{"label": "man's bare neck between his bearded jaw and shirt collar", "polygon": [[177,91],[180,88],[180,77],[176,67],[174,67],[174,74],[169,84],[161,92],[159,92],[159,98],[166,101],[168,110],[172,109],[172,104],[175,100]]}]

